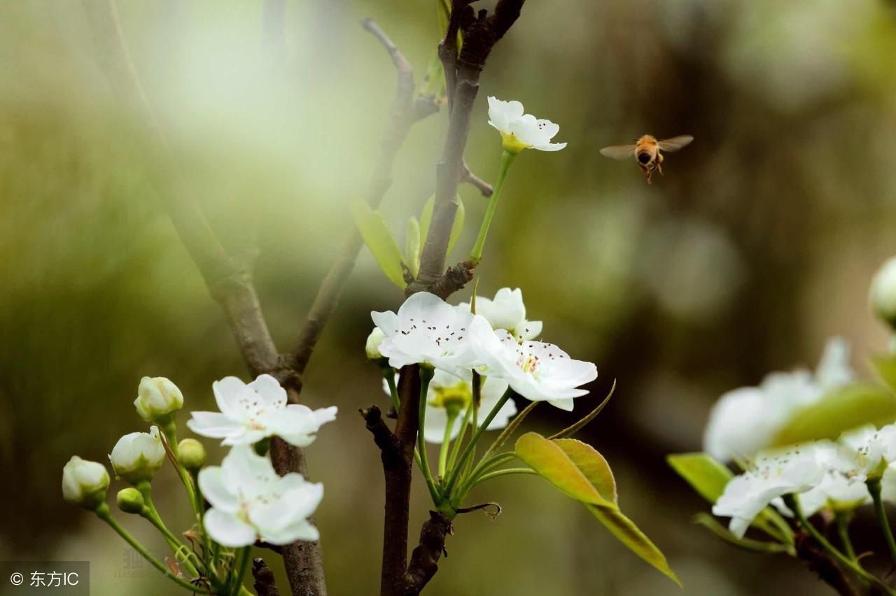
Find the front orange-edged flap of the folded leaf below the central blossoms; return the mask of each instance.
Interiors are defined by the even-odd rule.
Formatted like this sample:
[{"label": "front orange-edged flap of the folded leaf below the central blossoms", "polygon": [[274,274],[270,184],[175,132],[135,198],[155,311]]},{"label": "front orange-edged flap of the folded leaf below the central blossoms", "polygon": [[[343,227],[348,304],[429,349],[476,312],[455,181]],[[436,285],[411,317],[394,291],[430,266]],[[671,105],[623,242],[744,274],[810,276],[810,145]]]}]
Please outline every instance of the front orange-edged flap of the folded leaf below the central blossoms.
[{"label": "front orange-edged flap of the folded leaf below the central blossoms", "polygon": [[516,456],[524,464],[556,486],[565,495],[582,503],[616,509],[616,503],[604,498],[582,470],[564,450],[537,432],[527,432],[517,439]]}]

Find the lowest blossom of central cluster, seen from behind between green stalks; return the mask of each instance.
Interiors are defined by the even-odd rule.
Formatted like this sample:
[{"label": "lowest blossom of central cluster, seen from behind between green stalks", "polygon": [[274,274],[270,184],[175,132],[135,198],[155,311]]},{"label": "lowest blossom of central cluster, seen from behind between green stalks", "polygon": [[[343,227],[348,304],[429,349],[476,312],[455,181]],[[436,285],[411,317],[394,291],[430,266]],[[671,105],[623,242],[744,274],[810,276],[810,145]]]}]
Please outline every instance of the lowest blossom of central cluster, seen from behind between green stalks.
[{"label": "lowest blossom of central cluster, seen from behind between green stalks", "polygon": [[[395,376],[395,380],[398,381],[398,375]],[[483,377],[482,387],[479,389],[479,412],[491,412],[506,390],[507,382],[504,379]],[[391,395],[389,384],[385,379],[383,379],[383,391],[386,392],[386,395]],[[450,438],[451,440],[457,438],[461,432],[464,414],[472,400],[473,387],[470,383],[470,375],[466,379],[460,379],[444,370],[436,369],[426,391],[426,421],[424,421],[423,428],[423,438],[426,439],[426,442],[441,443],[444,440],[449,418],[452,418]],[[495,418],[488,423],[486,430],[503,429],[514,415],[516,415],[516,405],[513,404],[512,399],[509,399],[495,414]]]}]

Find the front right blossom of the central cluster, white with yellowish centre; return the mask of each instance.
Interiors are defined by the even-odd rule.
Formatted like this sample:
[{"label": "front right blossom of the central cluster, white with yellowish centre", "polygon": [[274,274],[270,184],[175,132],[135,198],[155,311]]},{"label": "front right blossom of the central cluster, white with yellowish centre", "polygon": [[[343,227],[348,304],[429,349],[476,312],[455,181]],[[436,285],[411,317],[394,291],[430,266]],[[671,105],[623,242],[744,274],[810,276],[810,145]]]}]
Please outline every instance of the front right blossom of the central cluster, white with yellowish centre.
[{"label": "front right blossom of the central cluster, white with yellowish centre", "polygon": [[547,401],[572,412],[573,398],[588,394],[581,386],[598,378],[591,362],[573,360],[553,344],[517,343],[504,329],[492,330],[479,315],[470,323],[470,344],[476,352],[478,372],[507,381],[516,393],[531,401]]}]

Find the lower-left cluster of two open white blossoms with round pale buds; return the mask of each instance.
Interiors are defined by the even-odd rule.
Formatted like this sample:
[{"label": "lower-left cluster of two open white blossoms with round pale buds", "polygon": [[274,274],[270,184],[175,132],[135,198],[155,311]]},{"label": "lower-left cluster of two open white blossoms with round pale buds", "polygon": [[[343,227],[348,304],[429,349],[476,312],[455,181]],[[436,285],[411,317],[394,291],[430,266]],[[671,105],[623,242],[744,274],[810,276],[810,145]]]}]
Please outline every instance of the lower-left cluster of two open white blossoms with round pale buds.
[{"label": "lower-left cluster of two open white blossoms with round pale buds", "polygon": [[[140,490],[119,493],[119,506],[124,503],[128,513],[145,513],[143,498],[149,504],[150,482],[165,461],[167,444],[191,494],[190,474],[198,472],[199,489],[211,503],[203,527],[212,540],[231,548],[258,540],[280,545],[317,540],[317,529],[308,517],[323,498],[323,485],[308,482],[299,473],[280,476],[255,447],[263,451],[265,440],[274,436],[306,447],[324,423],[335,420],[336,408],[311,410],[288,404],[286,390],[270,375],[248,384],[227,377],[214,382],[212,391],[220,412],[194,412],[187,426],[198,435],[223,439],[222,444],[232,448],[220,466],[202,468],[206,459],[202,444],[194,438],[177,443],[174,415],[184,405],[180,389],[163,377],[142,379],[134,406],[143,420],[156,425],[148,433],[125,435],[112,449],[109,461],[116,478]],[[108,485],[102,464],[77,456],[65,464],[63,496],[69,502],[99,513]]]}]

